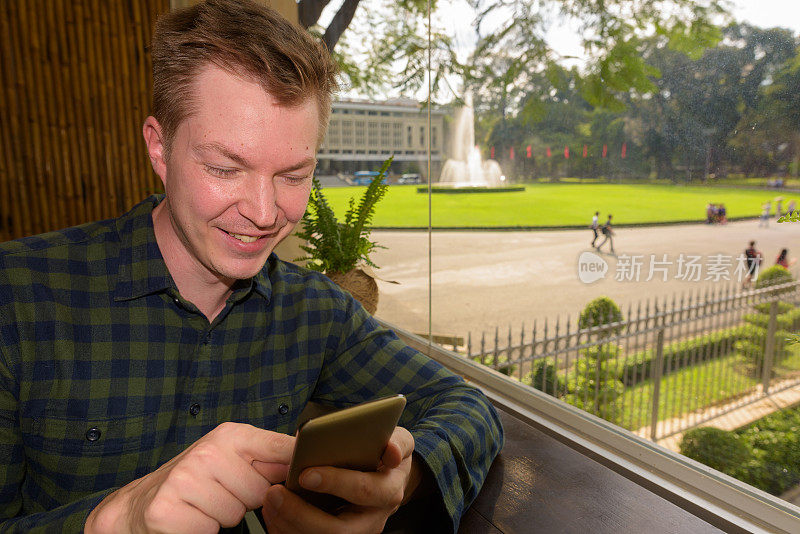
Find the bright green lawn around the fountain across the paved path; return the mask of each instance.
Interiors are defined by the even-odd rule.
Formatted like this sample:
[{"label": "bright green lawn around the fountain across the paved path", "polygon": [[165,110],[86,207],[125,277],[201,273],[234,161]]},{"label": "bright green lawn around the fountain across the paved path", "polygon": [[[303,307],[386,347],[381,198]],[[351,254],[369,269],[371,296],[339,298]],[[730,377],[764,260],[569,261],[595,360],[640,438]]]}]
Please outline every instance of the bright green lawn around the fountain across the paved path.
[{"label": "bright green lawn around the fountain across the paved path", "polygon": [[[391,185],[375,211],[377,227],[427,227],[428,197],[416,185]],[[341,216],[365,187],[331,187],[325,196]],[[708,202],[729,217],[757,216],[776,193],[751,189],[629,184],[532,184],[519,193],[434,194],[434,227],[587,226],[595,211],[617,224],[704,221]],[[789,198],[784,195],[786,201]],[[800,195],[795,195],[800,202]],[[785,205],[785,204],[784,204]]]}]

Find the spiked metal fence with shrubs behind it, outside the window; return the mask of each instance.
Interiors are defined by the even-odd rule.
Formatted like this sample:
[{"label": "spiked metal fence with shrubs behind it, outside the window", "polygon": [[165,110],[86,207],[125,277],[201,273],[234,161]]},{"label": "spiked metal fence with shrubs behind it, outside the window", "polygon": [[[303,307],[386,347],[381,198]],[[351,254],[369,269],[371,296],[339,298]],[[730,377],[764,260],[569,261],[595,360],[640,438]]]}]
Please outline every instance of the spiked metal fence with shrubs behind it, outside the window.
[{"label": "spiked metal fence with shrubs behind it, outside the window", "polygon": [[[600,308],[602,310],[602,307]],[[800,282],[467,340],[467,356],[652,440],[800,384]]]}]

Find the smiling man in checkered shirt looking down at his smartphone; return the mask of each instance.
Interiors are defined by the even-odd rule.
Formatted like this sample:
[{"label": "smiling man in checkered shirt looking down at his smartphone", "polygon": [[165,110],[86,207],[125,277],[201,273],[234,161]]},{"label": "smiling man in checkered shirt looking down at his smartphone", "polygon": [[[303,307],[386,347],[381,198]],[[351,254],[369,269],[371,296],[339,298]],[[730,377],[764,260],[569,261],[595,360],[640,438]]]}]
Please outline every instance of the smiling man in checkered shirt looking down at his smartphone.
[{"label": "smiling man in checkered shirt looking down at his smartphone", "polygon": [[[0,530],[377,532],[434,496],[449,530],[502,446],[463,380],[271,254],[303,216],[335,68],[274,11],[163,16],[143,133],[165,196],[0,245]],[[408,399],[375,473],[281,482],[308,402]],[[431,517],[431,525],[438,525]],[[436,527],[434,527],[436,528]]]}]

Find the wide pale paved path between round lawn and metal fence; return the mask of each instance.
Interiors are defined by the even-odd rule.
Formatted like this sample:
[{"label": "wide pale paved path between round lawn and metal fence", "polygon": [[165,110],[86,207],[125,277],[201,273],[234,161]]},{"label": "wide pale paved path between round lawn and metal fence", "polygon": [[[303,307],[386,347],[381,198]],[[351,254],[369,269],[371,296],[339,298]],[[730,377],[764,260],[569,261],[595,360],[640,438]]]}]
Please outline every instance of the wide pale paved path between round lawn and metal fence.
[{"label": "wide pale paved path between round lawn and metal fence", "polygon": [[[613,298],[623,309],[644,299],[669,297],[719,287],[720,280],[675,279],[681,254],[702,256],[702,277],[711,257],[735,257],[747,242],[756,240],[765,264],[774,264],[781,248],[800,257],[800,223],[759,228],[756,221],[725,226],[678,225],[617,229],[617,256],[604,254],[609,271],[605,279],[584,284],[578,278],[578,257],[589,247],[590,230],[563,231],[464,231],[434,232],[433,331],[466,336],[468,332],[493,331],[509,325],[518,331],[534,319],[574,318],[587,302],[600,295]],[[381,296],[377,316],[414,332],[428,331],[428,235],[425,232],[375,231],[379,244],[388,247],[374,254],[382,268],[377,274],[398,285],[379,282]],[[642,255],[639,281],[618,281],[618,262],[623,255]],[[668,280],[660,274],[648,277],[650,255],[667,255]],[[735,263],[735,262],[734,262]],[[793,272],[798,274],[795,265]],[[728,269],[735,278],[734,267]]]}]

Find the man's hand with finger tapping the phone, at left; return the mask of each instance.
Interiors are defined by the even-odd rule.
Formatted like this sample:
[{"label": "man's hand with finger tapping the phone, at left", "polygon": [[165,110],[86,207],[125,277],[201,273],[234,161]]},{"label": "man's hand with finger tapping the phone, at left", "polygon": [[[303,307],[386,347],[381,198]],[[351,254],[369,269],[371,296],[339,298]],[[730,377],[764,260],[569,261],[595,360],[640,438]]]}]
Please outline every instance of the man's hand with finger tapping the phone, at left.
[{"label": "man's hand with finger tapping the phone, at left", "polygon": [[285,480],[294,439],[223,423],[106,497],[89,514],[85,532],[216,533],[236,526],[272,484]]}]

